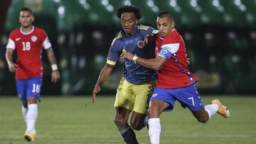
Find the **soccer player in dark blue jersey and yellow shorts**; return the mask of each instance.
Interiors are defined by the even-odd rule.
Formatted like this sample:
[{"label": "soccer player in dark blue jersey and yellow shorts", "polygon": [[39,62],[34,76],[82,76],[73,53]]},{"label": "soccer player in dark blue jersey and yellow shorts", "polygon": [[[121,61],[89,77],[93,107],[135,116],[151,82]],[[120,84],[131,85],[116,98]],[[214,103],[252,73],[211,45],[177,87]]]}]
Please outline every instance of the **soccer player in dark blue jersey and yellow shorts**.
[{"label": "soccer player in dark blue jersey and yellow shorts", "polygon": [[[122,30],[112,41],[107,64],[102,68],[92,91],[92,102],[95,102],[96,94],[100,92],[102,83],[110,76],[122,52],[132,52],[134,55],[144,58],[154,57],[154,45],[145,45],[144,37],[154,33],[155,30],[149,26],[137,25],[142,17],[141,10],[135,6],[122,6],[117,11],[117,17],[120,18]],[[114,101],[114,123],[126,143],[138,143],[133,129],[139,131],[145,126],[148,99],[155,82],[155,70],[149,70],[136,62],[125,60],[123,77],[120,80]],[[130,125],[133,129],[127,122],[131,112]]]}]

